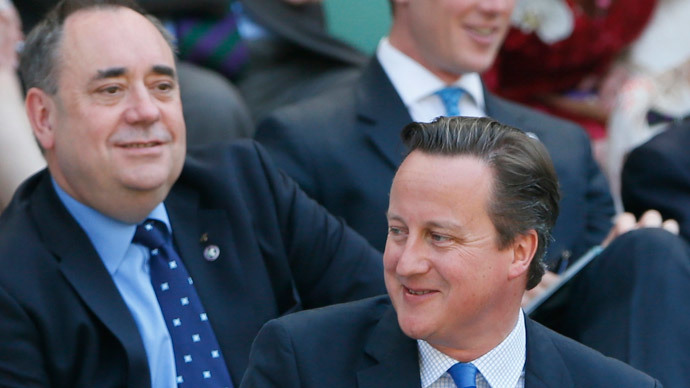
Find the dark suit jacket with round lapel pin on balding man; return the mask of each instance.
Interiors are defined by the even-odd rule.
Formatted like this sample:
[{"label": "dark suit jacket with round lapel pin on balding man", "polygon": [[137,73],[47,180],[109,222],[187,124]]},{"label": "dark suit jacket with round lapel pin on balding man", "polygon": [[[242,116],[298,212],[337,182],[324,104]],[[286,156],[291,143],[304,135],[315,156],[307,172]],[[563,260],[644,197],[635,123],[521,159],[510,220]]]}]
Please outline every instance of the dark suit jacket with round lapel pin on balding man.
[{"label": "dark suit jacket with round lapel pin on balding man", "polygon": [[[200,151],[165,205],[237,386],[266,321],[383,293],[383,269],[253,142]],[[148,387],[134,320],[49,178],[25,182],[0,218],[0,386]]]}]

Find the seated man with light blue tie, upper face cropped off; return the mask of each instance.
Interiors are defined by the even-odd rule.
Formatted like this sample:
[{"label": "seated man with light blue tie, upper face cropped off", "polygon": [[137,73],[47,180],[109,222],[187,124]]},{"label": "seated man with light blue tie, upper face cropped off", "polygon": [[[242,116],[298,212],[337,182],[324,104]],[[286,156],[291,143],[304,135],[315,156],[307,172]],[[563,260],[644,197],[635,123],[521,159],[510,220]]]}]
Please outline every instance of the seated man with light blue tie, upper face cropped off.
[{"label": "seated man with light blue tie, upper face cropped off", "polygon": [[[307,194],[383,250],[390,183],[404,152],[398,129],[410,120],[427,122],[459,113],[490,116],[520,128],[538,138],[552,156],[563,193],[554,244],[545,260],[553,272],[526,294],[525,302],[555,282],[557,274],[590,247],[607,245],[631,228],[662,224],[658,213],[639,222],[627,214],[613,224],[613,200],[585,132],[497,98],[483,87],[478,74],[494,60],[513,1],[394,0],[392,4],[390,34],[356,84],[279,109],[257,129],[256,138],[276,164]],[[674,222],[665,226],[673,229]],[[648,249],[633,250],[636,244],[629,239],[642,241]],[[667,386],[683,387],[690,379],[682,375],[690,370],[685,356],[690,338],[683,335],[686,316],[674,314],[669,304],[659,301],[679,301],[690,292],[686,271],[666,270],[682,268],[688,258],[669,240],[675,239],[668,233],[642,230],[616,244],[616,249],[605,249],[593,268],[606,272],[592,270],[578,279],[582,287],[577,289],[582,291],[562,299],[566,311],[552,316],[562,319],[550,325],[620,357]],[[654,246],[656,251],[650,249]],[[648,277],[657,280],[645,281]],[[667,318],[648,314],[650,310]],[[650,332],[655,333],[651,338]]]}]

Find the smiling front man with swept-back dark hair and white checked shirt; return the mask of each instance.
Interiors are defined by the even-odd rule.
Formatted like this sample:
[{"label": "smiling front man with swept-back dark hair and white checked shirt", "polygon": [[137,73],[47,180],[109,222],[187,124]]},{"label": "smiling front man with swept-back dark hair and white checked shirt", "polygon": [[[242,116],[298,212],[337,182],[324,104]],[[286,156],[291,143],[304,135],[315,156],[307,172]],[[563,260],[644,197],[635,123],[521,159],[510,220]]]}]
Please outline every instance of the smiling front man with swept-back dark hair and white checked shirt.
[{"label": "smiling front man with swept-back dark hair and white checked shirt", "polygon": [[485,118],[412,123],[403,138],[411,152],[387,213],[390,300],[269,322],[242,388],[660,386],[520,309],[558,216],[542,144]]}]

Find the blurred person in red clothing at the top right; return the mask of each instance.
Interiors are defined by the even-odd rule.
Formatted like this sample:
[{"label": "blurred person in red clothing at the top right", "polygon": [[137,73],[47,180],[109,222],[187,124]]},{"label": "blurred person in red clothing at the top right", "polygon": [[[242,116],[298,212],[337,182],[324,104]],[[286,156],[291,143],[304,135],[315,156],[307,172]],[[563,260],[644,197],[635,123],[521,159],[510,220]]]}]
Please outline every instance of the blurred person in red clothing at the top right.
[{"label": "blurred person in red clothing at the top right", "polygon": [[657,0],[522,0],[487,87],[584,126],[593,140],[627,71],[616,59],[640,35]]}]

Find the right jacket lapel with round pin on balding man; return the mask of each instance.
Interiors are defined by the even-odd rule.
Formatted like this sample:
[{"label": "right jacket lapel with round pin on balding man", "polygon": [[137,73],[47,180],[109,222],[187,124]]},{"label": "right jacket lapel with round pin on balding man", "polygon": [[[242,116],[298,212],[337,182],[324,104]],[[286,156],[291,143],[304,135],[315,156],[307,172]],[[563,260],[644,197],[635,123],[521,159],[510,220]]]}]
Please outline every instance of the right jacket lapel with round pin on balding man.
[{"label": "right jacket lapel with round pin on balding man", "polygon": [[[260,300],[248,287],[250,276],[240,260],[252,254],[243,251],[246,244],[237,241],[226,211],[201,208],[199,203],[198,193],[184,187],[175,187],[165,201],[176,248],[194,279],[232,380],[239,385],[251,339],[262,322],[254,308]],[[209,260],[213,246],[220,253]]]}]

